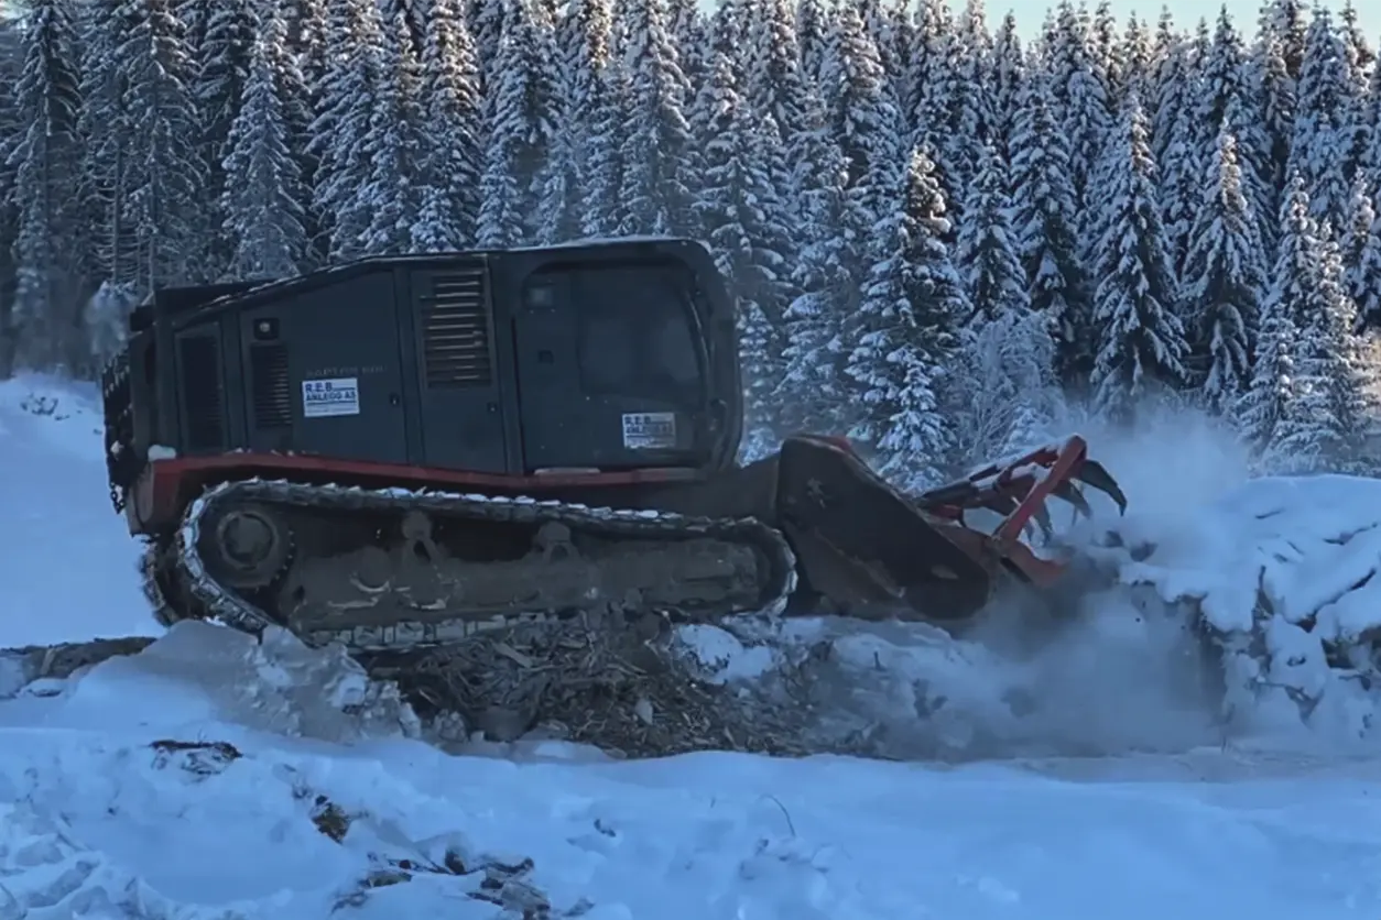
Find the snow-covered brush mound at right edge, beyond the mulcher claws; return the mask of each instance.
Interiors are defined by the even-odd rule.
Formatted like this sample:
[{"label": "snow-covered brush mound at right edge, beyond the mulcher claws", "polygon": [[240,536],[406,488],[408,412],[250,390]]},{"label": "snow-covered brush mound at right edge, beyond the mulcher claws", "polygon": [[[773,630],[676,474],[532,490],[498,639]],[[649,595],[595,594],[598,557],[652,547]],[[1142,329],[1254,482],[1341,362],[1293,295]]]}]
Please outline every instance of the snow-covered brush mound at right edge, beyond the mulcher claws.
[{"label": "snow-covered brush mound at right edge, beyond the mulcher claws", "polygon": [[1262,477],[1192,517],[1128,517],[1090,553],[1206,633],[1243,730],[1374,741],[1381,481]]}]

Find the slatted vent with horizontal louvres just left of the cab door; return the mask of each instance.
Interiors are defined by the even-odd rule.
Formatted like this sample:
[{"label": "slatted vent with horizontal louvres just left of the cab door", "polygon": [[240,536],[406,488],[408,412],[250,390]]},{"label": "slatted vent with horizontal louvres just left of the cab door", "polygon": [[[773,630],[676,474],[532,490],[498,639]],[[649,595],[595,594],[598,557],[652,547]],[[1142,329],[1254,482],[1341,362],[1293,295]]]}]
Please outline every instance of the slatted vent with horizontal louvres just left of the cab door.
[{"label": "slatted vent with horizontal louvres just left of the cab door", "polygon": [[432,277],[423,327],[427,386],[449,389],[489,386],[489,310],[482,268]]}]

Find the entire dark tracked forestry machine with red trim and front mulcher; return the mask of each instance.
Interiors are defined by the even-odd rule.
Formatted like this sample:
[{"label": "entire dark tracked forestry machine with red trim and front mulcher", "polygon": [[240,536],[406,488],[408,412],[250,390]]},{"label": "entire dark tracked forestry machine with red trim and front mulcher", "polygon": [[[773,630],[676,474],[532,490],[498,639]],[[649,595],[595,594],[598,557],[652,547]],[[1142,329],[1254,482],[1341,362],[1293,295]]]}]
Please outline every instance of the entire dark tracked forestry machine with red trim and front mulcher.
[{"label": "entire dark tracked forestry machine with red trim and front mulcher", "polygon": [[740,463],[743,375],[689,239],[162,288],[102,377],[110,498],[164,625],[360,655],[580,617],[958,625],[1058,583],[1023,541],[1047,499],[1126,505],[1079,436],[917,495],[836,436]]}]

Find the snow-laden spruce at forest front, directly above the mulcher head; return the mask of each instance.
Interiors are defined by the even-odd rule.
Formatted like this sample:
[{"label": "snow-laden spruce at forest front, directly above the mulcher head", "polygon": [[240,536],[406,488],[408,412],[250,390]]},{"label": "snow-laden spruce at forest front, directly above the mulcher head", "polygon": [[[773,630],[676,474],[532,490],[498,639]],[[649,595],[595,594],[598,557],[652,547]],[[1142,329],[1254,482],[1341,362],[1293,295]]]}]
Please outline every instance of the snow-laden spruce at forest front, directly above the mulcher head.
[{"label": "snow-laden spruce at forest front, directly above the mulcher head", "polygon": [[940,411],[957,328],[972,309],[950,262],[945,197],[934,166],[913,152],[876,229],[882,254],[867,276],[845,372],[862,410],[849,434],[878,472],[916,490],[943,477],[954,439]]}]

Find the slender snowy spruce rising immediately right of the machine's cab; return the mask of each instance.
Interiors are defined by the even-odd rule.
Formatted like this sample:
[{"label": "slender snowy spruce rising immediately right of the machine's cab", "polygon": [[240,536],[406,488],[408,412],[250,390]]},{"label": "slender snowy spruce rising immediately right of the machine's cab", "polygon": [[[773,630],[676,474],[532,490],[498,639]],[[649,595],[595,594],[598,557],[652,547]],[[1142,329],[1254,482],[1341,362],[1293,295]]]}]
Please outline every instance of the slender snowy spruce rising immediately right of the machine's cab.
[{"label": "slender snowy spruce rising immediately right of the machine's cab", "polygon": [[703,149],[696,218],[737,299],[747,428],[750,434],[775,432],[790,229],[761,150],[780,148],[780,135],[772,116],[760,116],[739,94],[733,65],[722,51],[711,59],[693,121]]}]

